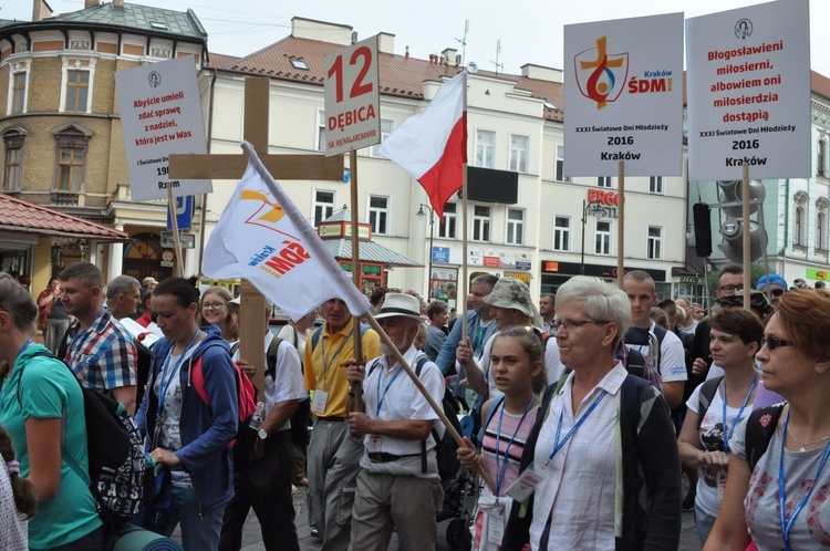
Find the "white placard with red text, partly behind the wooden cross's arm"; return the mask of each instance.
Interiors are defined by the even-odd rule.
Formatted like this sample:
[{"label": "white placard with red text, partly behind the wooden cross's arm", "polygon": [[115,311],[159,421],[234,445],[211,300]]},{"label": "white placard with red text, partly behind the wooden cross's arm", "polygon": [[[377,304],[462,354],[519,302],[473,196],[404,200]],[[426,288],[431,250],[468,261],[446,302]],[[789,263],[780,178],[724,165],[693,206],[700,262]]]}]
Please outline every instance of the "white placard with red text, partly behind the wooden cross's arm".
[{"label": "white placard with red text, partly behind the wooden cross's arm", "polygon": [[121,126],[134,201],[209,194],[210,180],[167,176],[172,153],[207,153],[194,58],[151,63],[115,73]]}]

